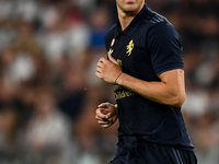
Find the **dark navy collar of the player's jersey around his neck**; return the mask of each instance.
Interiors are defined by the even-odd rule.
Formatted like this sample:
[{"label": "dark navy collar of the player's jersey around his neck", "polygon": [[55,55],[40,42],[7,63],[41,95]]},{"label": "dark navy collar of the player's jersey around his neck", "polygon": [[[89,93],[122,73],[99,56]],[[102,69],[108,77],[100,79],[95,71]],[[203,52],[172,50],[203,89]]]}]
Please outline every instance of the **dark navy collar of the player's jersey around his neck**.
[{"label": "dark navy collar of the player's jersey around his neck", "polygon": [[119,20],[117,20],[115,37],[118,36],[120,33],[130,36],[134,33],[134,31],[138,27],[138,25],[141,23],[141,21],[143,20],[147,11],[148,11],[148,7],[145,4],[141,11],[135,16],[135,19],[130,22],[130,24],[124,31],[122,31],[120,22]]}]

